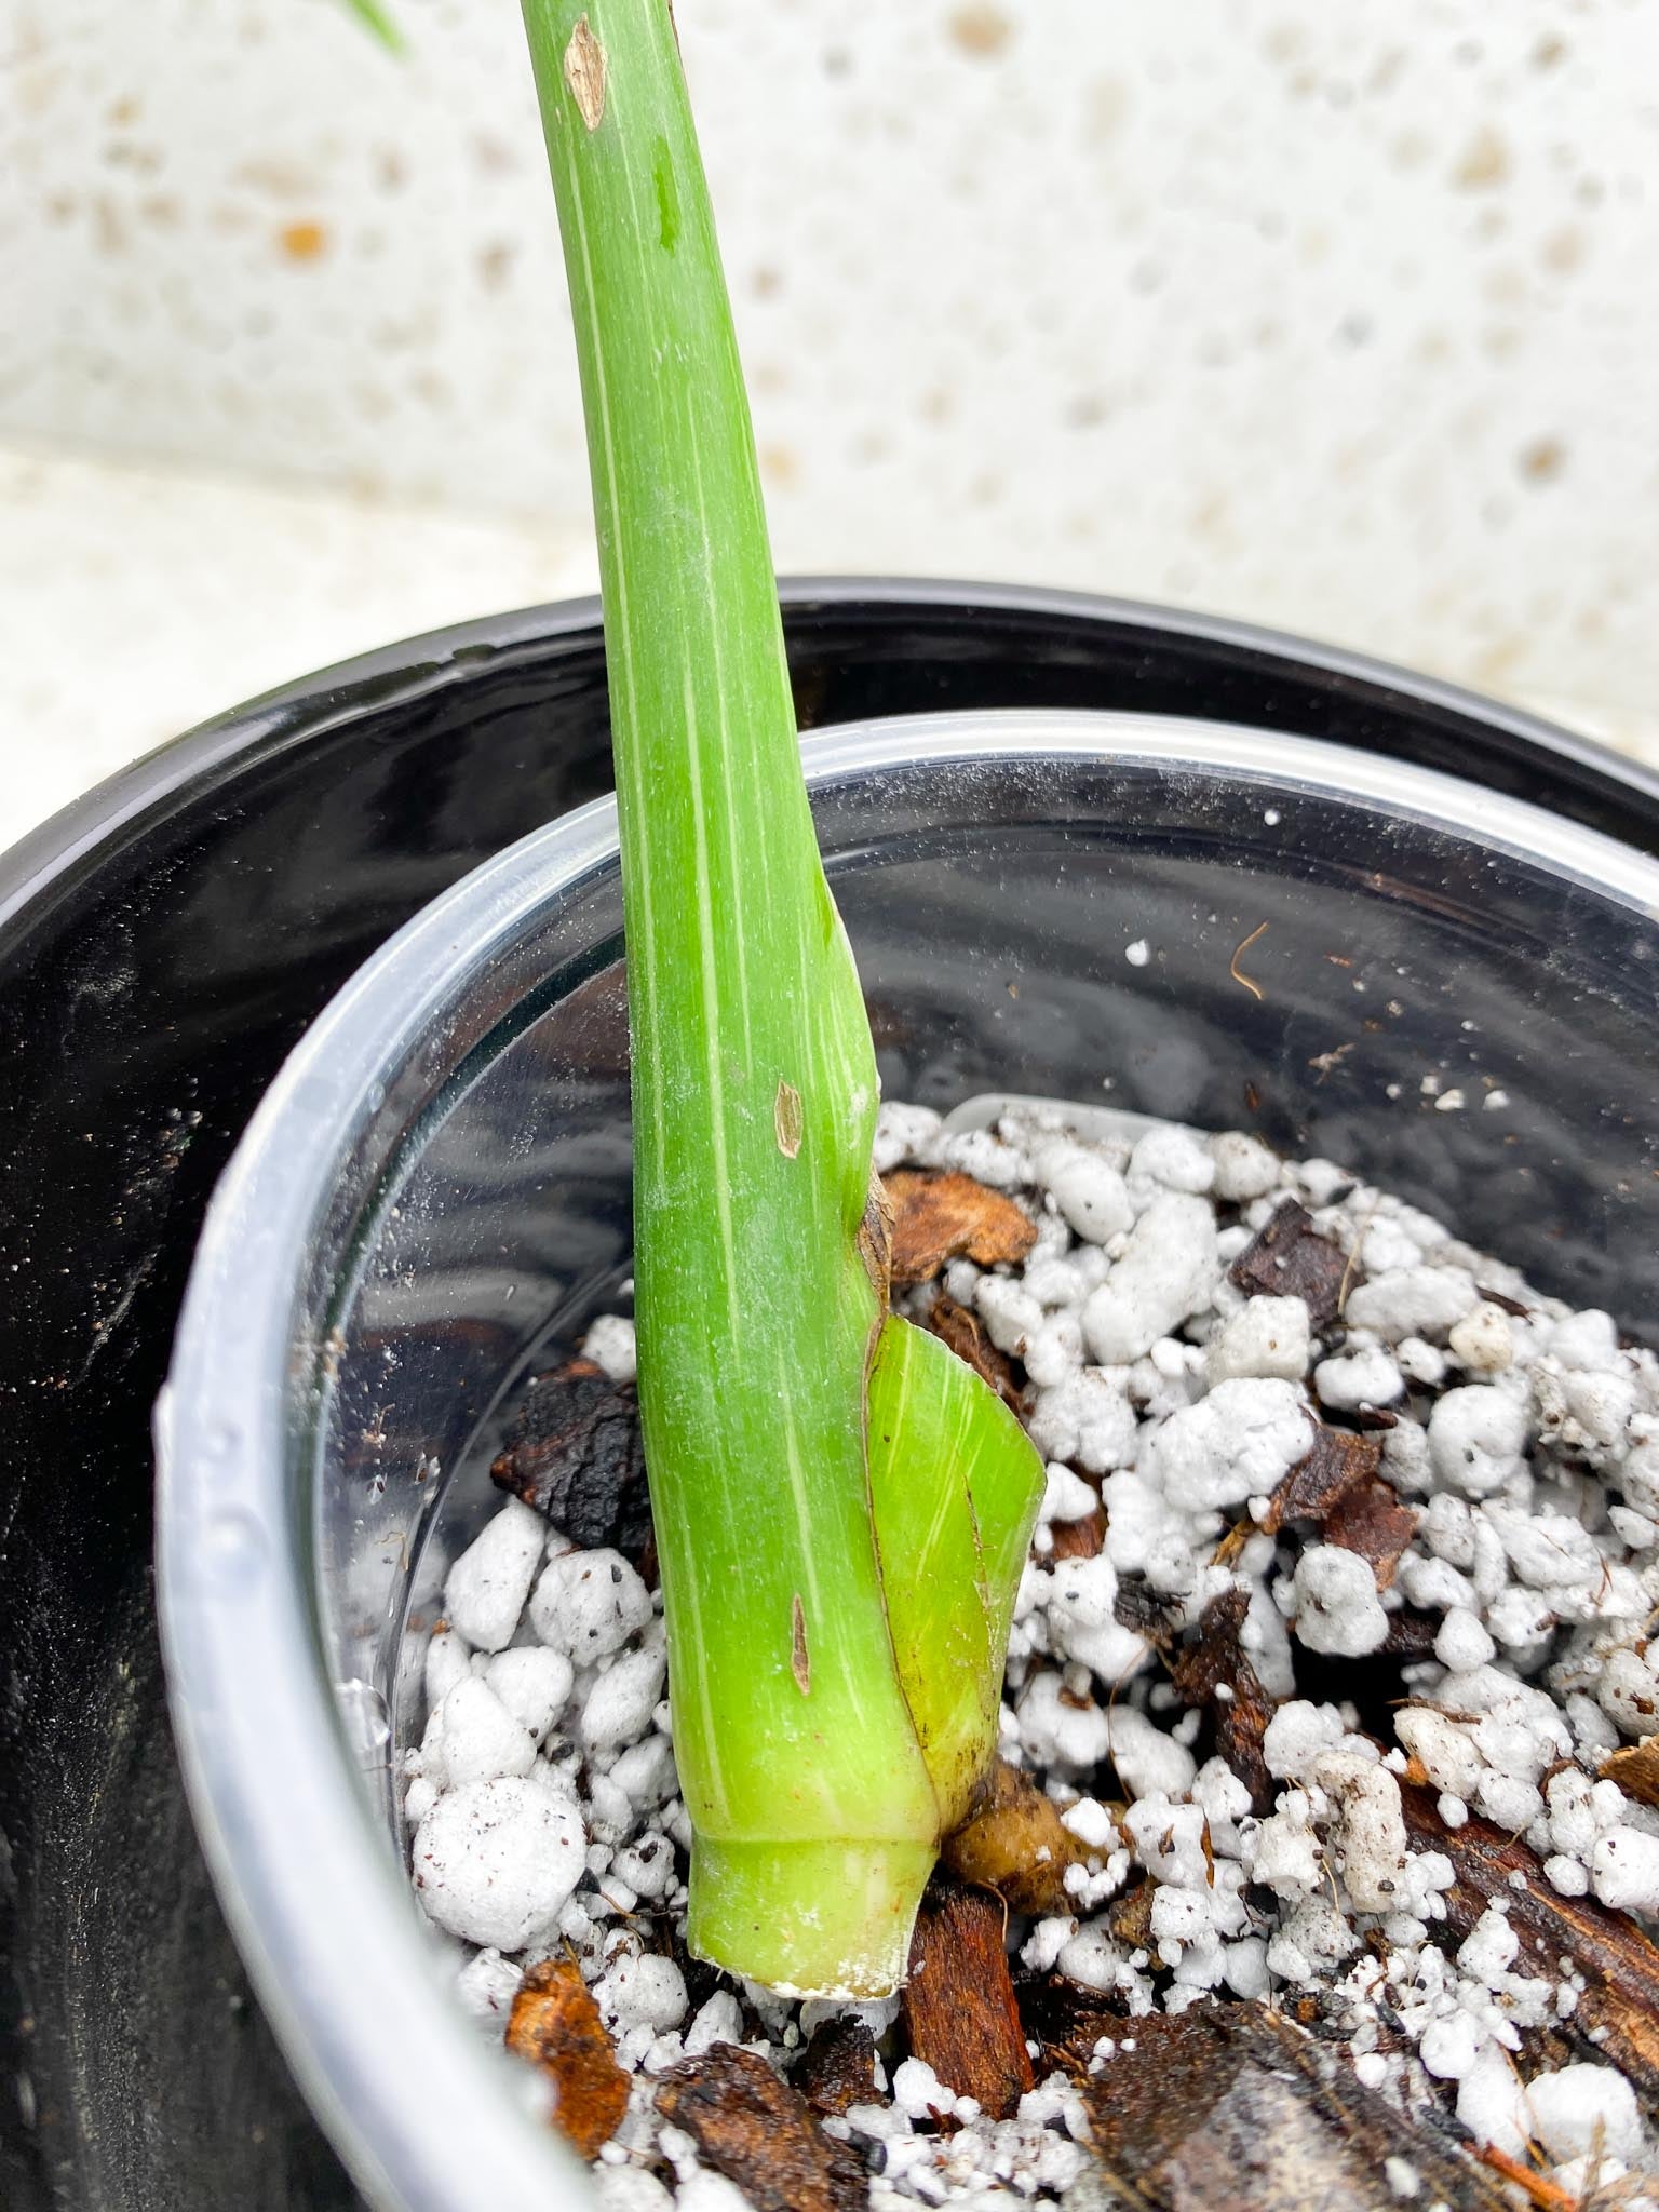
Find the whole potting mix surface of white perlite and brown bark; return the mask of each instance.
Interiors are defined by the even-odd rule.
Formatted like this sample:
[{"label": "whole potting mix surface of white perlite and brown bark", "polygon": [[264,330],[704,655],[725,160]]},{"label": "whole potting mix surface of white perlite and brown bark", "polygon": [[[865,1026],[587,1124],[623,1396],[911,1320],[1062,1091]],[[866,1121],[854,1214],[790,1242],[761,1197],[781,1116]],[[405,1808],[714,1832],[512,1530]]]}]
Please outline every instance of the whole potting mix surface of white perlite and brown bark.
[{"label": "whole potting mix surface of white perlite and brown bark", "polygon": [[606,2201],[1659,2212],[1652,1354],[1245,1135],[889,1106],[876,1164],[1048,1462],[902,1995],[686,1953],[626,1314],[429,1644],[411,1878]]}]

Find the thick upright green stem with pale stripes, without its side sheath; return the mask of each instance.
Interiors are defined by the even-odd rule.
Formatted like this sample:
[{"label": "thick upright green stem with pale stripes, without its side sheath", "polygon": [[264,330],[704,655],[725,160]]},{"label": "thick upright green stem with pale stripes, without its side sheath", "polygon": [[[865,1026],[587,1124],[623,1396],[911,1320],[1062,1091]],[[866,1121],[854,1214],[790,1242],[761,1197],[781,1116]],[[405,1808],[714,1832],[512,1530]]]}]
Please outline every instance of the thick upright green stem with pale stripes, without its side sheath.
[{"label": "thick upright green stem with pale stripes, without its side sheath", "polygon": [[940,1767],[918,1730],[872,1517],[876,1060],[801,776],[666,0],[524,0],[524,20],[611,661],[639,1405],[690,1942],[759,1980],[865,1995],[902,1975],[956,1774],[980,1756],[949,1747]]}]

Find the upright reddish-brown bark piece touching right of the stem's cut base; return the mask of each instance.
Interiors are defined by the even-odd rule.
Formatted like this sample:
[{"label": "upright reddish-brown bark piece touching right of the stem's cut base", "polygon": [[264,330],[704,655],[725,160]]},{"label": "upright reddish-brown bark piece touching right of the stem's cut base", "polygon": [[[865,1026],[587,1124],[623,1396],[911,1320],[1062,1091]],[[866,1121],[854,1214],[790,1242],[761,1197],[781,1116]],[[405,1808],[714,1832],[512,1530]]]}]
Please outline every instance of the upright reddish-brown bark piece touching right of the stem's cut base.
[{"label": "upright reddish-brown bark piece touching right of the stem's cut base", "polygon": [[911,2053],[991,2119],[1011,2119],[1033,2086],[1013,2002],[1000,1898],[936,1880],[916,1916],[902,2017]]}]

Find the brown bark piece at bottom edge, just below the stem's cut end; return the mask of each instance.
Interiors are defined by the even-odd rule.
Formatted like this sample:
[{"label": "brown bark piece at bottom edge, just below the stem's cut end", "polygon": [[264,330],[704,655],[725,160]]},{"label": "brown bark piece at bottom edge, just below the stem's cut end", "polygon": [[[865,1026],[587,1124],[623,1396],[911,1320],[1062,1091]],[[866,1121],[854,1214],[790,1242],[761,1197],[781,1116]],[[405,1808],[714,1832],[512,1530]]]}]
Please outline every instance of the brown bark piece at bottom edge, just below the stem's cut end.
[{"label": "brown bark piece at bottom edge, just below the stem's cut end", "polygon": [[672,2066],[657,2084],[657,2110],[757,2212],[863,2212],[869,2201],[858,2154],[832,2141],[754,2051],[712,2044]]}]

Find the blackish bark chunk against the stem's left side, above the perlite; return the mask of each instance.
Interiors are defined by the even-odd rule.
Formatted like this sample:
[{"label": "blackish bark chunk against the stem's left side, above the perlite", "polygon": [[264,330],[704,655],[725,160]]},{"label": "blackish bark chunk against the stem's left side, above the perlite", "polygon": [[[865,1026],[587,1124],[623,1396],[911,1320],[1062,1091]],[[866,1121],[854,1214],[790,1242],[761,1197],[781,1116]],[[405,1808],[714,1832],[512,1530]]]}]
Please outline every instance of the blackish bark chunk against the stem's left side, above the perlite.
[{"label": "blackish bark chunk against the stem's left side, above the perlite", "polygon": [[633,1557],[650,1540],[639,1394],[593,1360],[538,1376],[489,1480],[546,1513],[582,1551],[608,1544]]}]

